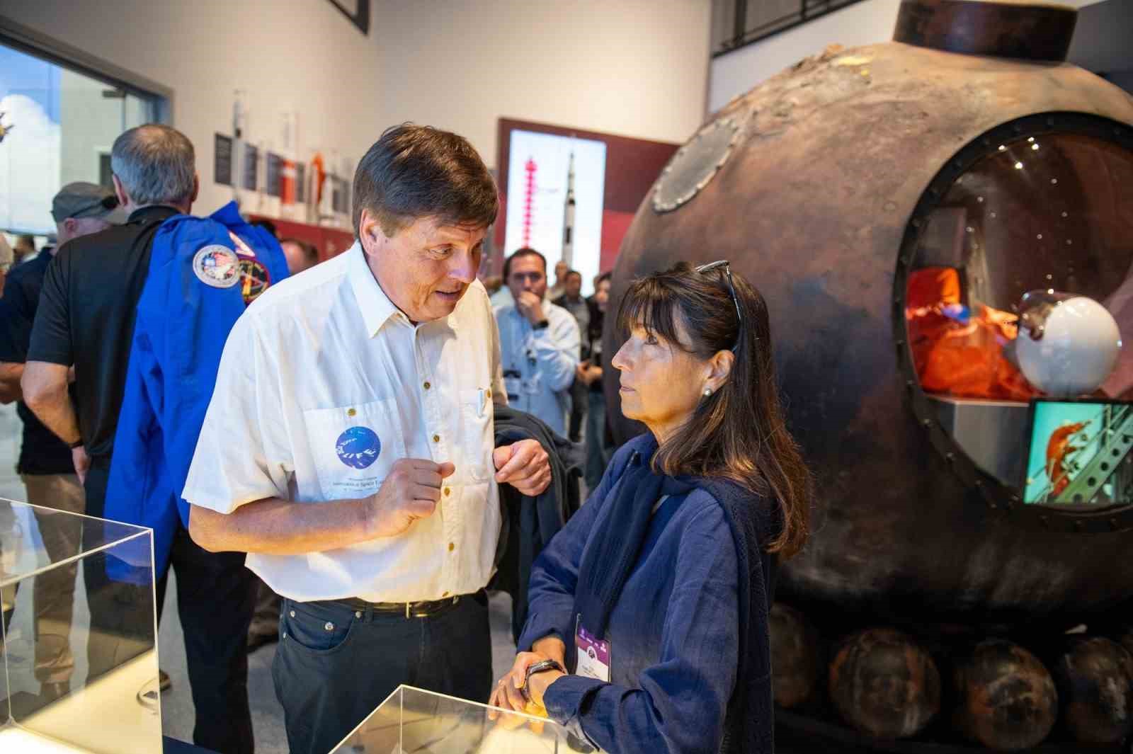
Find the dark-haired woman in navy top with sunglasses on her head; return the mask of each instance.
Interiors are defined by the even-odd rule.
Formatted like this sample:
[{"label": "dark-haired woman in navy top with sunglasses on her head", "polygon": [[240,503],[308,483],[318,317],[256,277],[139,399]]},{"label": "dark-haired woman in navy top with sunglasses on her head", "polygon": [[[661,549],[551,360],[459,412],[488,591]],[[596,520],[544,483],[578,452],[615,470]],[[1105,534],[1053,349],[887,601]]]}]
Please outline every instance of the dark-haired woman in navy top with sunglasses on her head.
[{"label": "dark-haired woman in navy top with sunglasses on her head", "polygon": [[772,752],[773,569],[807,538],[810,477],[766,305],[726,262],[682,263],[634,281],[619,322],[622,413],[649,431],[535,563],[491,703],[611,754]]}]

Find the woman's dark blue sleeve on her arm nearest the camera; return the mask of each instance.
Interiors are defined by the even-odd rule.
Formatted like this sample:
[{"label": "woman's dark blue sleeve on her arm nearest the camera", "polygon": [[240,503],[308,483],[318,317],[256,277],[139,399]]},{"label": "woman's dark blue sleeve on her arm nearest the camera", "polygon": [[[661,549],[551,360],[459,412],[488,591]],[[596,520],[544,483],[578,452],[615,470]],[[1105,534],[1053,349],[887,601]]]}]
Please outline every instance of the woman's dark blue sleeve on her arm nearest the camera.
[{"label": "woman's dark blue sleeve on her arm nearest the camera", "polygon": [[[719,749],[739,652],[739,571],[721,506],[692,519],[673,567],[661,657],[641,672],[640,687],[564,676],[544,695],[552,719],[604,751]],[[612,652],[616,658],[617,648]]]}]

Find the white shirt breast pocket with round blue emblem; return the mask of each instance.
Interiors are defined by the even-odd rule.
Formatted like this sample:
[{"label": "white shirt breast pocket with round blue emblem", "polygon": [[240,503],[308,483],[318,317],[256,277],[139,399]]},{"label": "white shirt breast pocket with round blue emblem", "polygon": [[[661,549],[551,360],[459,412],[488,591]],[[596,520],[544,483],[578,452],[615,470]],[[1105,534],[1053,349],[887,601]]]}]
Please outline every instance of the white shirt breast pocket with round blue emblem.
[{"label": "white shirt breast pocket with round blue emblem", "polygon": [[327,500],[373,495],[406,457],[393,400],[303,412],[318,486]]}]

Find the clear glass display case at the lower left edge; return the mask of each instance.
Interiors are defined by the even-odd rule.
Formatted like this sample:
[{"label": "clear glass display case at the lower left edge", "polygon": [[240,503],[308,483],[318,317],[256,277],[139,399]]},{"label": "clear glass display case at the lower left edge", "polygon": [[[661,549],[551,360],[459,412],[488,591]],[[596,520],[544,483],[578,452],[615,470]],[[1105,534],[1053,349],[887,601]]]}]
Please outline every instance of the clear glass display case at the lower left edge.
[{"label": "clear glass display case at the lower left edge", "polygon": [[0,752],[162,751],[148,529],[0,499]]}]

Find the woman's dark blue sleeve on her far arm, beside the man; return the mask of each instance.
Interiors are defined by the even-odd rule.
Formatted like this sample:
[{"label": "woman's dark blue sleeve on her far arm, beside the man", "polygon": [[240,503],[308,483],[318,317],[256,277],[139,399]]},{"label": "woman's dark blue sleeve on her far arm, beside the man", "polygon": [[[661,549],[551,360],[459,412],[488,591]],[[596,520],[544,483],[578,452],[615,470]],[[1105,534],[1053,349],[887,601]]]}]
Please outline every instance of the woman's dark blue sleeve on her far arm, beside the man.
[{"label": "woman's dark blue sleeve on her far arm, beside the man", "polygon": [[548,634],[559,636],[568,648],[574,641],[574,585],[582,549],[632,452],[627,444],[614,454],[598,488],[535,559],[527,590],[527,623],[517,643],[520,652],[530,651],[531,644]]}]

